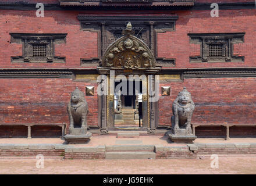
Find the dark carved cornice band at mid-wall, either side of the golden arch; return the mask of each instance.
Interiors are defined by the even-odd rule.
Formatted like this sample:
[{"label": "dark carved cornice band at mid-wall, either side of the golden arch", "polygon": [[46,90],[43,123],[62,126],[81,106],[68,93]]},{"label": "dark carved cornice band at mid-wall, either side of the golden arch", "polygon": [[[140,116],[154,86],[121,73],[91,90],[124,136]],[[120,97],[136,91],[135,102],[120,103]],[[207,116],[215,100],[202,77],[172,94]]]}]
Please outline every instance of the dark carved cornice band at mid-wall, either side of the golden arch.
[{"label": "dark carved cornice band at mid-wall, either side of the golden arch", "polygon": [[[106,71],[104,71],[106,73]],[[97,69],[0,69],[0,78],[73,78],[76,74],[101,74]],[[182,78],[256,77],[256,67],[158,69],[157,74],[180,74]]]}]

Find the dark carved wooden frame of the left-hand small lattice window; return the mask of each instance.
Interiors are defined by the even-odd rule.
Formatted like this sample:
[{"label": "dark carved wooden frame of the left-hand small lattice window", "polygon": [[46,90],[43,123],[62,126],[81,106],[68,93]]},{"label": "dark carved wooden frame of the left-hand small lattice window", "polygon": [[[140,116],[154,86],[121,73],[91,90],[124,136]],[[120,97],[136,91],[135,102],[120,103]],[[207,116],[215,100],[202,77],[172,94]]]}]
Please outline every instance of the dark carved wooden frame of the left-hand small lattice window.
[{"label": "dark carved wooden frame of the left-hand small lattice window", "polygon": [[[13,63],[65,63],[66,58],[55,56],[55,44],[66,43],[67,34],[10,33],[10,43],[22,44],[22,56],[11,56]],[[33,46],[45,45],[45,56],[34,56]]]}]

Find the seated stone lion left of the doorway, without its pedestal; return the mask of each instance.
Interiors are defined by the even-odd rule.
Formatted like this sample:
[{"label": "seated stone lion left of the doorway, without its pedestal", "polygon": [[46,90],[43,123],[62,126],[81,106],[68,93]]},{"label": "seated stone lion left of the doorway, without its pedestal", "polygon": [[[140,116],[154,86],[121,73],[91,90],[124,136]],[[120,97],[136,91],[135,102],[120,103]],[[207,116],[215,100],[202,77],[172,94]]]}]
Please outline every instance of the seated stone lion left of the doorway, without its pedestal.
[{"label": "seated stone lion left of the doorway, without its pedestal", "polygon": [[70,129],[87,128],[88,104],[84,98],[84,93],[77,87],[71,94],[70,102],[67,105],[69,114]]}]

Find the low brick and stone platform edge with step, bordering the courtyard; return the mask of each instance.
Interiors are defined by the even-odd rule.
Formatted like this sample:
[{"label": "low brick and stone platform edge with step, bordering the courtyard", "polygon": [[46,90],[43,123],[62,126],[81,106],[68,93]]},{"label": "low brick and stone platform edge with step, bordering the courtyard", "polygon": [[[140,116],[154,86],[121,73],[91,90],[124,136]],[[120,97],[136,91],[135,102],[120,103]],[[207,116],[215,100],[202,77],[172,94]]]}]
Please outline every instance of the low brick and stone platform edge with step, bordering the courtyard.
[{"label": "low brick and stone platform edge with step, bordering the courtyard", "polygon": [[[133,156],[143,152],[143,156]],[[117,153],[113,159],[196,159],[201,155],[256,155],[256,144],[186,144],[181,146],[163,145],[0,145],[0,158],[26,158],[44,155],[45,158],[64,159],[109,159],[107,153]],[[148,154],[147,154],[148,153]],[[152,153],[155,153],[152,156]],[[132,157],[129,157],[131,155]],[[123,156],[123,157],[122,157]],[[111,158],[110,158],[111,159]],[[136,158],[135,158],[136,159]]]}]

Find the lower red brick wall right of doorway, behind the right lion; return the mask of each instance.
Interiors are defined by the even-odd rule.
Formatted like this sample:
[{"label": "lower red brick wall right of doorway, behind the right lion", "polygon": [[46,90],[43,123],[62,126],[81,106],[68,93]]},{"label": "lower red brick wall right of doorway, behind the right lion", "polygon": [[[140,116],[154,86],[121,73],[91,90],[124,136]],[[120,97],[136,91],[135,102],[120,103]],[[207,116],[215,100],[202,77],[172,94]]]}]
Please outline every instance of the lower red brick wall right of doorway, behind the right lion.
[{"label": "lower red brick wall right of doorway, behind the right lion", "polygon": [[[171,87],[159,98],[159,124],[170,124],[172,103],[186,87],[195,103],[193,123],[244,123],[256,121],[256,78],[197,78],[160,84]],[[169,112],[166,112],[168,110]]]}]

